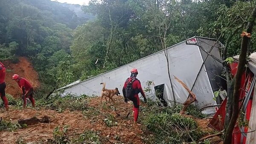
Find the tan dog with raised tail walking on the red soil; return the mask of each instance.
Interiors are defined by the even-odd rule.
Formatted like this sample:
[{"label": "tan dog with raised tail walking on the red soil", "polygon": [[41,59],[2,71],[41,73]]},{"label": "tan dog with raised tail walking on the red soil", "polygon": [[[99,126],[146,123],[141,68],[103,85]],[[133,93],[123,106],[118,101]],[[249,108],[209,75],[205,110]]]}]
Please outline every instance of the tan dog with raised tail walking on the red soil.
[{"label": "tan dog with raised tail walking on the red soil", "polygon": [[[103,84],[101,97],[103,98],[105,96],[106,101],[107,101],[106,97],[108,97],[109,98],[108,103],[109,103],[110,99],[113,101],[112,98],[114,95],[118,95],[118,94],[120,95],[117,87],[115,89],[105,89],[106,83],[100,83],[100,84]],[[100,100],[100,104],[102,103],[102,98]],[[115,102],[113,101],[113,103],[115,103]]]}]

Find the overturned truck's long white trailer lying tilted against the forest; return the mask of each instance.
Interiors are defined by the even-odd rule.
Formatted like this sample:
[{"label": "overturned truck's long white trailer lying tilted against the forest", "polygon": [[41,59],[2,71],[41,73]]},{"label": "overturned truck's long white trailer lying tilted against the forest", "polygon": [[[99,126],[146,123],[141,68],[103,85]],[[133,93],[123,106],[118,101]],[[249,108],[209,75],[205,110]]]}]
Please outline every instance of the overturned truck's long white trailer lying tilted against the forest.
[{"label": "overturned truck's long white trailer lying tilted against the forest", "polygon": [[177,77],[196,95],[195,105],[203,113],[211,115],[216,112],[221,102],[221,99],[214,98],[214,92],[220,87],[225,89],[226,86],[226,81],[221,77],[221,48],[223,45],[216,39],[192,37],[166,49],[171,79],[168,75],[165,51],[162,50],[85,81],[75,81],[58,90],[62,90],[63,96],[100,95],[101,82],[106,82],[107,89],[122,89],[126,78],[130,76],[130,70],[137,68],[137,78],[142,86],[151,89],[145,92],[148,98],[154,99],[157,93],[157,97],[169,106],[172,106],[174,101],[186,101],[189,93],[175,80]]}]

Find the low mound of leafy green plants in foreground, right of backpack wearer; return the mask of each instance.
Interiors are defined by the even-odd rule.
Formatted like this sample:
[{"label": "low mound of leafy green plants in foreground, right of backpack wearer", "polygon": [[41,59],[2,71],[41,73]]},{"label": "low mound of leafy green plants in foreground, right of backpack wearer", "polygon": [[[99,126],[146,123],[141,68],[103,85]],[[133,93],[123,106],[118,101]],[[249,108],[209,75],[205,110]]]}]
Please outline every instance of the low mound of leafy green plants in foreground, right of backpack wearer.
[{"label": "low mound of leafy green plants in foreground, right of backpack wearer", "polygon": [[198,140],[203,135],[192,118],[183,117],[178,113],[151,114],[145,119],[145,125],[149,131],[154,133],[154,143],[190,142]]}]

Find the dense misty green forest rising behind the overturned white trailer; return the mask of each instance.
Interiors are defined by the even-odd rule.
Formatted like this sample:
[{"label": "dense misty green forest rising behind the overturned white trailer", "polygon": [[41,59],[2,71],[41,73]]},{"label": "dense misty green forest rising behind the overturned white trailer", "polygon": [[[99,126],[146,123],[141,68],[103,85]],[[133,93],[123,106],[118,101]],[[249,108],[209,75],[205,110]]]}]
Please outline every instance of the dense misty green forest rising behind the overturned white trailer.
[{"label": "dense misty green forest rising behind the overturned white trailer", "polygon": [[[239,54],[255,2],[91,0],[84,14],[50,0],[0,1],[0,60],[29,58],[49,90],[122,66],[193,36]],[[67,6],[68,5],[68,6]],[[76,12],[75,12],[76,11]],[[78,16],[79,15],[79,16]],[[250,51],[253,52],[254,39]]]}]

